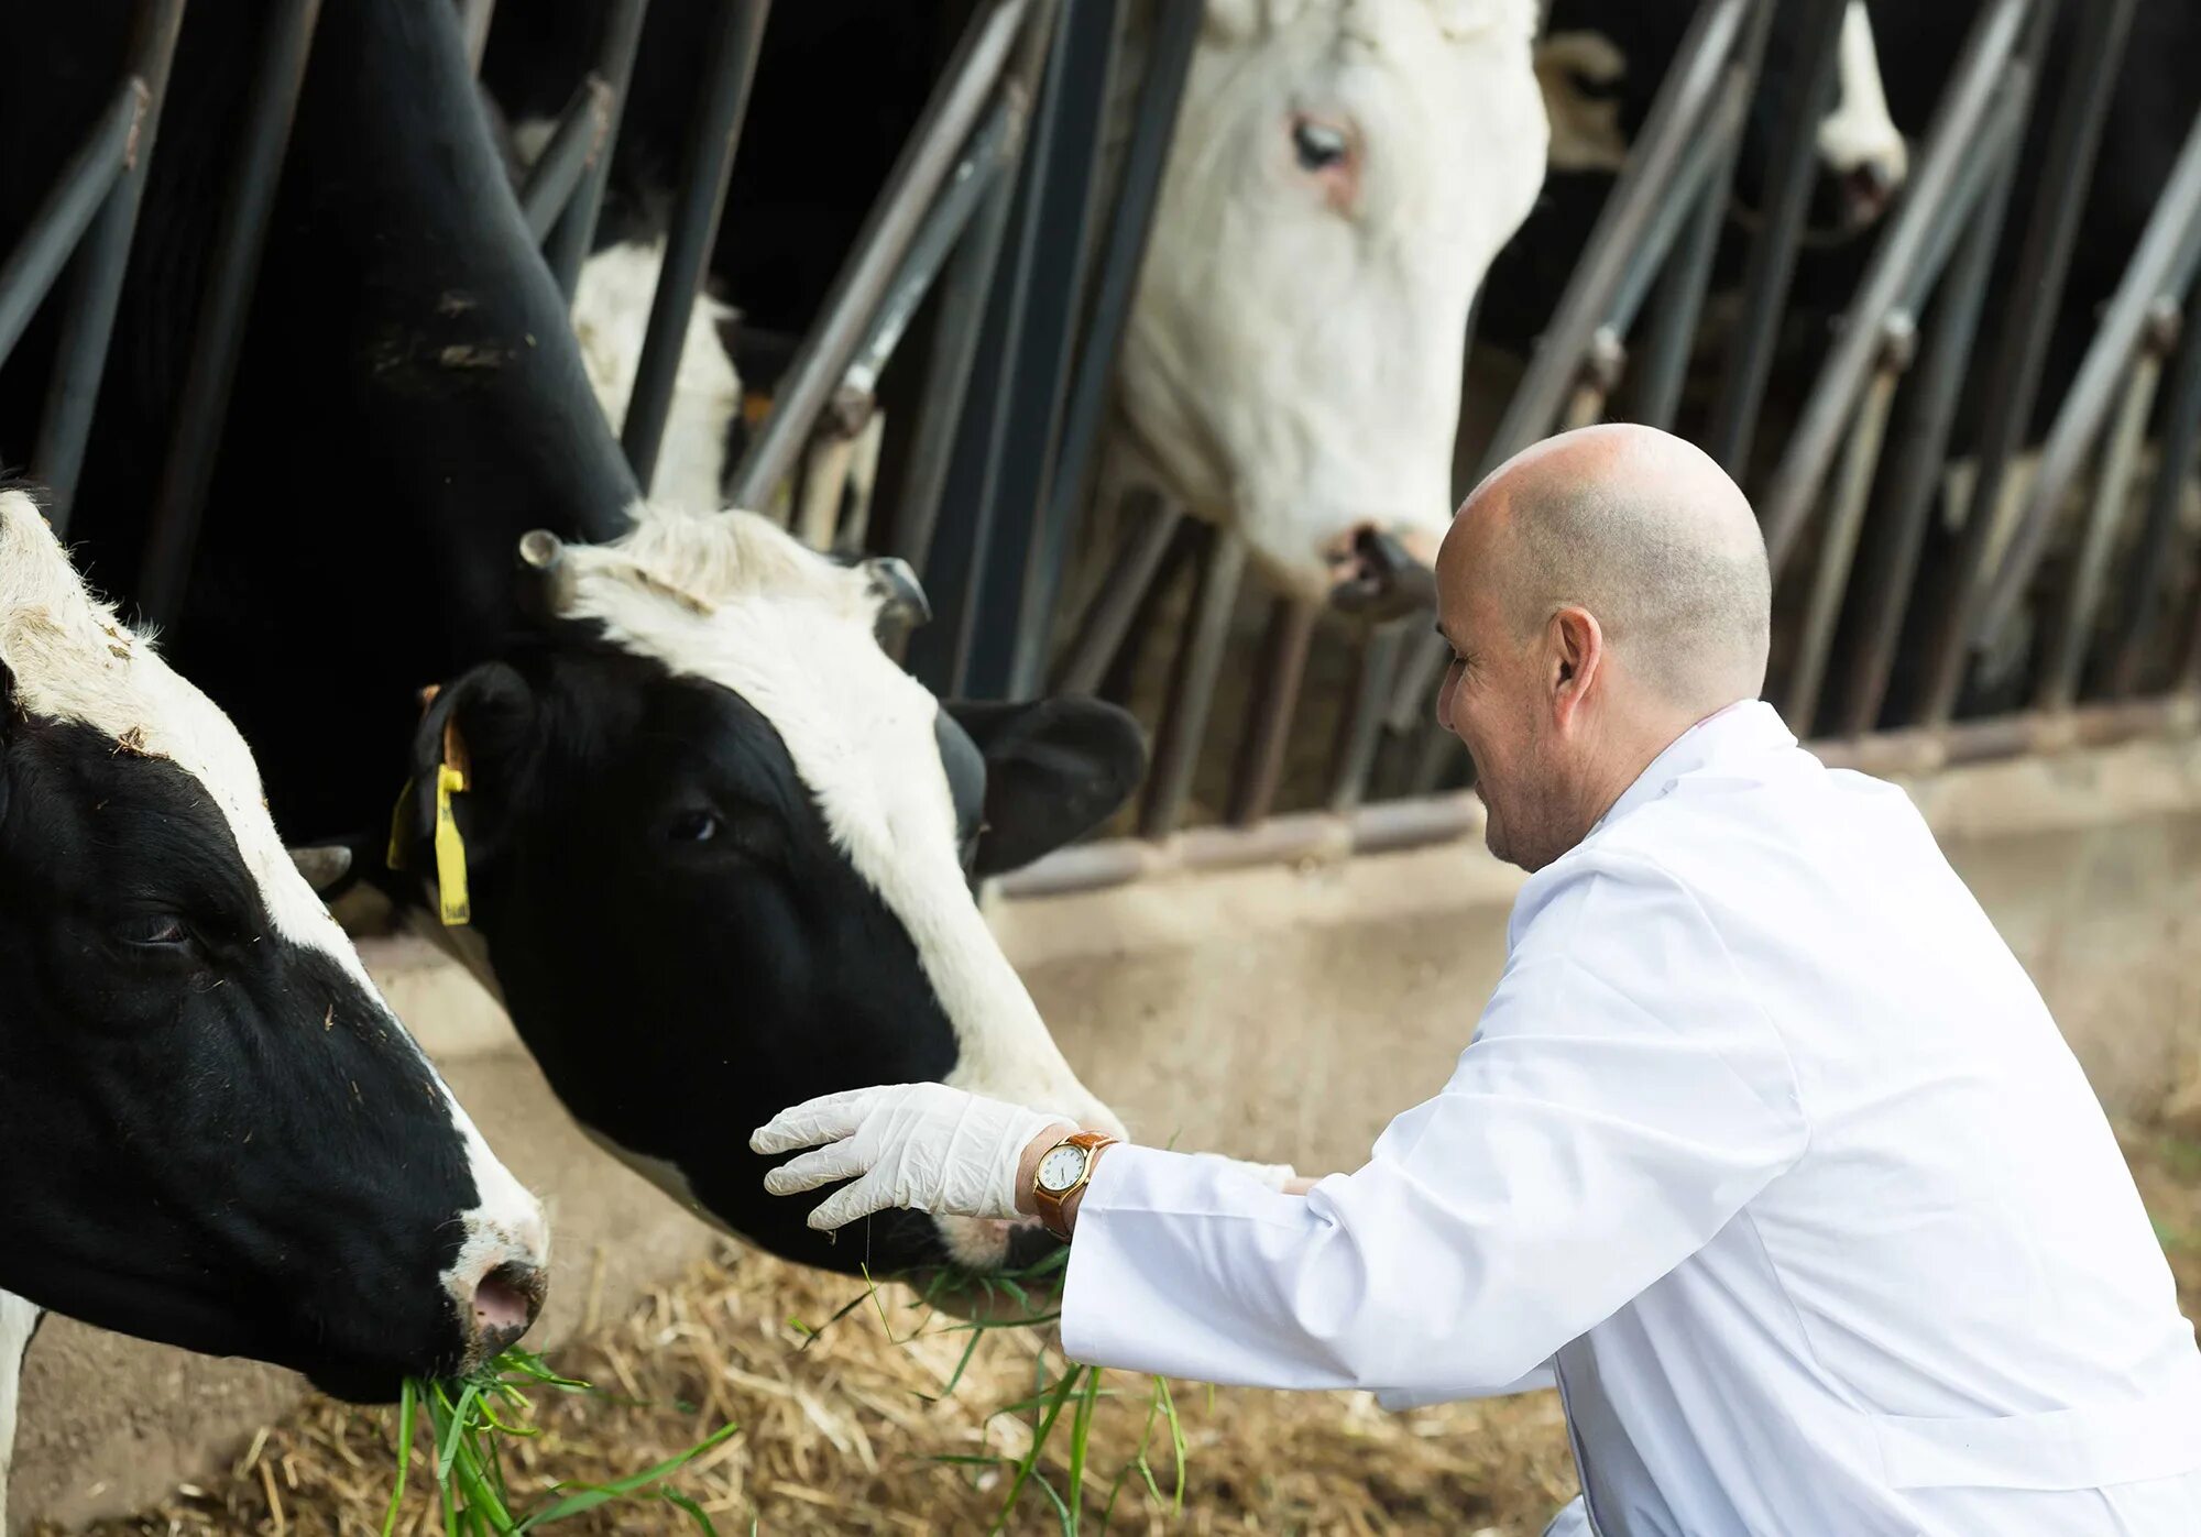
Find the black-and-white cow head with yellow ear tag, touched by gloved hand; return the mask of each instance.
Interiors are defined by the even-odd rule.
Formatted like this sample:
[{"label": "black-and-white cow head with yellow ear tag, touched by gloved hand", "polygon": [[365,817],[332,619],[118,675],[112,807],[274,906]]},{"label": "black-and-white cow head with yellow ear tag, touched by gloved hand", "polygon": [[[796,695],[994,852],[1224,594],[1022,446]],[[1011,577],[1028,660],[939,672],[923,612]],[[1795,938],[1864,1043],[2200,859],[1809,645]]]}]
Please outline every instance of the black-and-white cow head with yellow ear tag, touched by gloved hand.
[{"label": "black-and-white cow head with yellow ear tag, touched by gloved hand", "polygon": [[[471,912],[451,936],[480,942],[568,1110],[698,1216],[803,1264],[1043,1251],[1037,1229],[1010,1253],[999,1224],[916,1216],[834,1242],[764,1193],[748,1127],[913,1079],[1118,1125],[968,876],[1103,821],[1145,768],[1136,722],[1078,698],[942,705],[876,639],[922,617],[907,573],[748,513],[638,506],[618,542],[522,551],[541,634],[434,696],[414,771],[464,760]],[[423,874],[427,826],[405,857]]]}]

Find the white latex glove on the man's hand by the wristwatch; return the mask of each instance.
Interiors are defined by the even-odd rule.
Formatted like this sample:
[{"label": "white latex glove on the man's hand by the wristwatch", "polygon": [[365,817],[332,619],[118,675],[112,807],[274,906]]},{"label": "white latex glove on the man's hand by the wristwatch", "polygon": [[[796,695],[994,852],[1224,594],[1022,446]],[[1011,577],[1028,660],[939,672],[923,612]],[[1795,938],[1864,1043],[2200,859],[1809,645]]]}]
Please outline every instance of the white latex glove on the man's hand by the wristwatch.
[{"label": "white latex glove on the man's hand by the wristwatch", "polygon": [[817,1147],[764,1176],[773,1196],[856,1180],[810,1213],[810,1227],[830,1233],[889,1207],[1017,1220],[1017,1165],[1048,1127],[1067,1136],[1076,1123],[946,1083],[891,1083],[781,1110],[748,1147],[766,1156]]}]

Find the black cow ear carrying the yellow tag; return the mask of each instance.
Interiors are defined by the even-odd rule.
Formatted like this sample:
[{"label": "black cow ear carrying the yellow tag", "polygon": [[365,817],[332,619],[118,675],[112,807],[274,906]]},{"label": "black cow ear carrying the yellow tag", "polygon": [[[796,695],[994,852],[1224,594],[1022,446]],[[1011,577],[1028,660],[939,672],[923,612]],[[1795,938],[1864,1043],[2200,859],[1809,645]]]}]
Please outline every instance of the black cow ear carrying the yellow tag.
[{"label": "black cow ear carrying the yellow tag", "polygon": [[436,786],[449,764],[464,780],[453,819],[467,857],[493,859],[511,832],[535,733],[535,689],[508,663],[482,663],[436,689],[414,731],[412,846],[425,850],[436,835]]}]

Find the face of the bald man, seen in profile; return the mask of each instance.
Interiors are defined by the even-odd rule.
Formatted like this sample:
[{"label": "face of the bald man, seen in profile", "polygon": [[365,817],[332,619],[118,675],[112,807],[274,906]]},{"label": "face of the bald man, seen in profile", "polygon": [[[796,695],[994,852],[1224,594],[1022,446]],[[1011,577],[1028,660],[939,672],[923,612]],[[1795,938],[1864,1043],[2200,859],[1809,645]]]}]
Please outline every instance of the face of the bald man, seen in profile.
[{"label": "face of the bald man, seen in profile", "polygon": [[[1499,859],[1541,870],[1572,848],[1565,808],[1574,766],[1556,731],[1556,661],[1543,628],[1505,608],[1503,533],[1490,511],[1461,517],[1437,557],[1437,630],[1453,665],[1437,689],[1437,722],[1475,757],[1483,843]],[[1550,663],[1550,667],[1547,667]]]}]

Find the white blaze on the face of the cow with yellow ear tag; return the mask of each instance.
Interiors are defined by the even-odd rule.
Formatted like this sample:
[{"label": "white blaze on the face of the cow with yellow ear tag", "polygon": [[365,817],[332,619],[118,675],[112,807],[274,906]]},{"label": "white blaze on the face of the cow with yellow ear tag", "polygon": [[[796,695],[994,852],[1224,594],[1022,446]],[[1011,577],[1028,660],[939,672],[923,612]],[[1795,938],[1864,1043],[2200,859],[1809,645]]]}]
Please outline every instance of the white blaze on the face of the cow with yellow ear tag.
[{"label": "white blaze on the face of the cow with yellow ear tag", "polygon": [[878,647],[880,601],[867,573],[764,517],[649,504],[614,544],[570,546],[550,595],[561,617],[733,689],[773,724],[834,846],[909,931],[955,1028],[953,1083],[1116,1125],[971,901],[940,707]]}]

